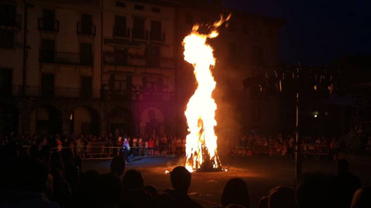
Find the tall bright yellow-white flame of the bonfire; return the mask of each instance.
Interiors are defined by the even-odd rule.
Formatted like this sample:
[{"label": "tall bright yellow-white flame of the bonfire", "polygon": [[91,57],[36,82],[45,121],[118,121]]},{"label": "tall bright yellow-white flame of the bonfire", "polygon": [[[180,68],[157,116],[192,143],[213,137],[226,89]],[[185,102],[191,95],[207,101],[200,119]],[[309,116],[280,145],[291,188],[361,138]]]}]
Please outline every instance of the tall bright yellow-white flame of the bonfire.
[{"label": "tall bright yellow-white flame of the bonfire", "polygon": [[[216,87],[211,69],[215,66],[216,58],[213,48],[206,43],[208,38],[218,37],[218,28],[229,18],[215,22],[209,34],[200,34],[199,25],[183,40],[184,60],[194,67],[194,75],[198,83],[197,89],[189,99],[184,112],[187,118],[189,134],[186,138],[186,165],[193,172],[203,164],[209,168],[220,168],[221,163],[217,154],[217,135],[214,127],[217,125],[215,111],[217,104],[211,95]],[[209,28],[210,29],[210,28]]]}]

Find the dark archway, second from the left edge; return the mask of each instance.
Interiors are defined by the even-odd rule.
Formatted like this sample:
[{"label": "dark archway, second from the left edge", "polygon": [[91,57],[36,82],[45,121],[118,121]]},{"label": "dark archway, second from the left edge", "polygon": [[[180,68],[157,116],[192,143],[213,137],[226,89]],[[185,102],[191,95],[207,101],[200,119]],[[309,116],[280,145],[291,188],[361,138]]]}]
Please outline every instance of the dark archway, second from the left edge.
[{"label": "dark archway, second from the left edge", "polygon": [[62,133],[62,113],[50,105],[43,105],[31,113],[31,133]]}]

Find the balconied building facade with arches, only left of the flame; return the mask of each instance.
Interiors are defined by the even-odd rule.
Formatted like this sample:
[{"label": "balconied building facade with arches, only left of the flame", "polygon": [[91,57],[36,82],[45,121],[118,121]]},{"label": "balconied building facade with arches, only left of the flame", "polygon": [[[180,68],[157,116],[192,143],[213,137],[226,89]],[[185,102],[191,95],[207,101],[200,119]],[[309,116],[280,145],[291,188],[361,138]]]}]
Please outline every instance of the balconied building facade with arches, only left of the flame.
[{"label": "balconied building facade with arches, only left of the flame", "polygon": [[174,131],[174,7],[26,2],[1,1],[2,132]]}]

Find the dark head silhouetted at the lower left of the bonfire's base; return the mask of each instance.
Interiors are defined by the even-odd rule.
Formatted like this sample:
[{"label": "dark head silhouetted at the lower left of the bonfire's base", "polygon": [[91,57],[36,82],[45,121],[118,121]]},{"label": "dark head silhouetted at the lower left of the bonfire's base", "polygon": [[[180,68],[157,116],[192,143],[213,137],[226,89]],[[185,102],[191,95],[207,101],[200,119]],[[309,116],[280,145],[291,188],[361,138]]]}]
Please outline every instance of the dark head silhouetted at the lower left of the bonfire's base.
[{"label": "dark head silhouetted at the lower left of the bonfire's base", "polygon": [[188,193],[191,185],[191,173],[183,166],[177,166],[170,173],[170,180],[177,192]]}]

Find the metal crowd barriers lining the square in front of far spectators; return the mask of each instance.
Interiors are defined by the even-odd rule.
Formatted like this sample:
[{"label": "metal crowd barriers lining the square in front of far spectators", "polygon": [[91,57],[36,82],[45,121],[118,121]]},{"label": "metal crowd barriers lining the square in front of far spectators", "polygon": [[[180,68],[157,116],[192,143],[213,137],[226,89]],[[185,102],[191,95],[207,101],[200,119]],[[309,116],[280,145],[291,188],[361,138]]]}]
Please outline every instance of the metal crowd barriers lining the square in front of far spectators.
[{"label": "metal crowd barriers lining the square in front of far spectators", "polygon": [[[30,146],[23,146],[26,151]],[[72,146],[72,147],[57,147],[52,148],[57,152],[63,149],[70,149],[73,154],[80,155],[82,158],[112,158],[122,154],[121,146],[112,146],[110,143],[89,143],[87,146]],[[293,154],[293,150],[287,149],[279,143],[253,143],[247,147],[234,145],[232,143],[218,144],[218,152],[222,154],[235,153],[237,155],[269,155],[269,156],[284,156]],[[169,155],[184,155],[185,146],[166,145],[155,147],[130,147],[130,155],[133,157],[157,157]],[[302,145],[300,146],[300,154],[327,156],[330,154],[330,147],[325,145]]]}]

